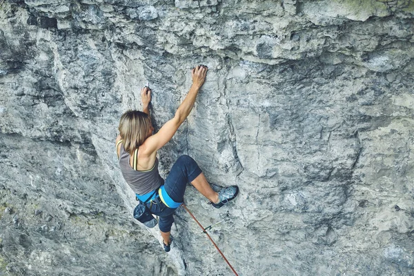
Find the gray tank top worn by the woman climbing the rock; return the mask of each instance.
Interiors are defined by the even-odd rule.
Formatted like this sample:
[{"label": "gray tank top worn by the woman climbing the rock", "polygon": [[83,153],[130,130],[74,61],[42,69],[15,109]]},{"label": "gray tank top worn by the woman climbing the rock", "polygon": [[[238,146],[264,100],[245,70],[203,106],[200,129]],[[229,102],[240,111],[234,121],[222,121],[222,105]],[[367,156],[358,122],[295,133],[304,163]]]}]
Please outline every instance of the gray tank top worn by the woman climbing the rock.
[{"label": "gray tank top worn by the woman climbing the rock", "polygon": [[119,166],[126,183],[131,187],[134,193],[145,195],[155,190],[162,184],[164,179],[158,172],[158,158],[155,157],[155,164],[150,170],[134,170],[130,166],[130,154],[125,151],[124,144],[121,144],[119,155]]}]

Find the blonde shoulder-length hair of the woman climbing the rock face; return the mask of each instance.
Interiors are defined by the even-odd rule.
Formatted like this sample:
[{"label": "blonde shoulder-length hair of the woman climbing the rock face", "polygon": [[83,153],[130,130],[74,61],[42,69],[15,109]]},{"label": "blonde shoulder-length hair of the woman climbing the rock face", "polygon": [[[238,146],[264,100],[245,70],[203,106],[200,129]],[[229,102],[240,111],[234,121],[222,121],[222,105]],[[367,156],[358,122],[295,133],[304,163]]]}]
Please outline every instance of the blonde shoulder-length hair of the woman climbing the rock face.
[{"label": "blonde shoulder-length hair of the woman climbing the rock face", "polygon": [[124,148],[130,155],[141,146],[147,138],[151,127],[150,116],[138,110],[124,112],[119,121],[119,135],[123,140]]}]

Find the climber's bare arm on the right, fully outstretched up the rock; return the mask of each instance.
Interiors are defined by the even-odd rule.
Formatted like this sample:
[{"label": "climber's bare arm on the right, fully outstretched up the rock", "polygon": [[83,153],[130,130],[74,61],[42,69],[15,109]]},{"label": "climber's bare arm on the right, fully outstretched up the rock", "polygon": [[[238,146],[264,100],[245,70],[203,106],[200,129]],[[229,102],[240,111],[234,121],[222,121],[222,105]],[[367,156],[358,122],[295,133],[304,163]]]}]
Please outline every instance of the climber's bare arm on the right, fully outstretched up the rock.
[{"label": "climber's bare arm on the right, fully outstretched up the rock", "polygon": [[197,66],[191,72],[191,77],[193,79],[193,85],[188,92],[186,99],[179,105],[179,108],[175,112],[174,118],[167,121],[164,126],[155,134],[146,139],[144,142],[144,154],[151,155],[153,152],[156,152],[162,148],[165,144],[170,141],[170,139],[175,135],[179,126],[183,124],[191,110],[193,109],[195,99],[199,92],[199,89],[204,83],[207,74],[206,66]]}]

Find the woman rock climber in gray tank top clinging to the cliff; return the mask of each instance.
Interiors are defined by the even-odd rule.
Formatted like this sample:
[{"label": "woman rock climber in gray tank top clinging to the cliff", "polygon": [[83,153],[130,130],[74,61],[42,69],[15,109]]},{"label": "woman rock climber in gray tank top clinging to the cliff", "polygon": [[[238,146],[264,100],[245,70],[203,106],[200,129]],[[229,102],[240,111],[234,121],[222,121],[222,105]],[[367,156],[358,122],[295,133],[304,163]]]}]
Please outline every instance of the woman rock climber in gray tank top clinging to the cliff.
[{"label": "woman rock climber in gray tank top clinging to the cliff", "polygon": [[[197,66],[191,70],[193,85],[186,98],[180,104],[175,116],[152,135],[150,111],[151,90],[144,87],[141,90],[143,112],[128,110],[119,121],[117,137],[117,154],[119,166],[124,179],[132,188],[150,213],[159,216],[159,230],[164,240],[164,250],[170,251],[172,239],[170,230],[174,217],[172,216],[184,201],[186,184],[193,186],[210,200],[211,205],[220,208],[237,196],[237,186],[223,188],[216,193],[208,184],[204,173],[188,155],[182,155],[172,166],[165,181],[158,172],[157,150],[170,141],[181,124],[193,109],[195,98],[203,85],[208,68]],[[149,200],[147,200],[149,199]]]}]

